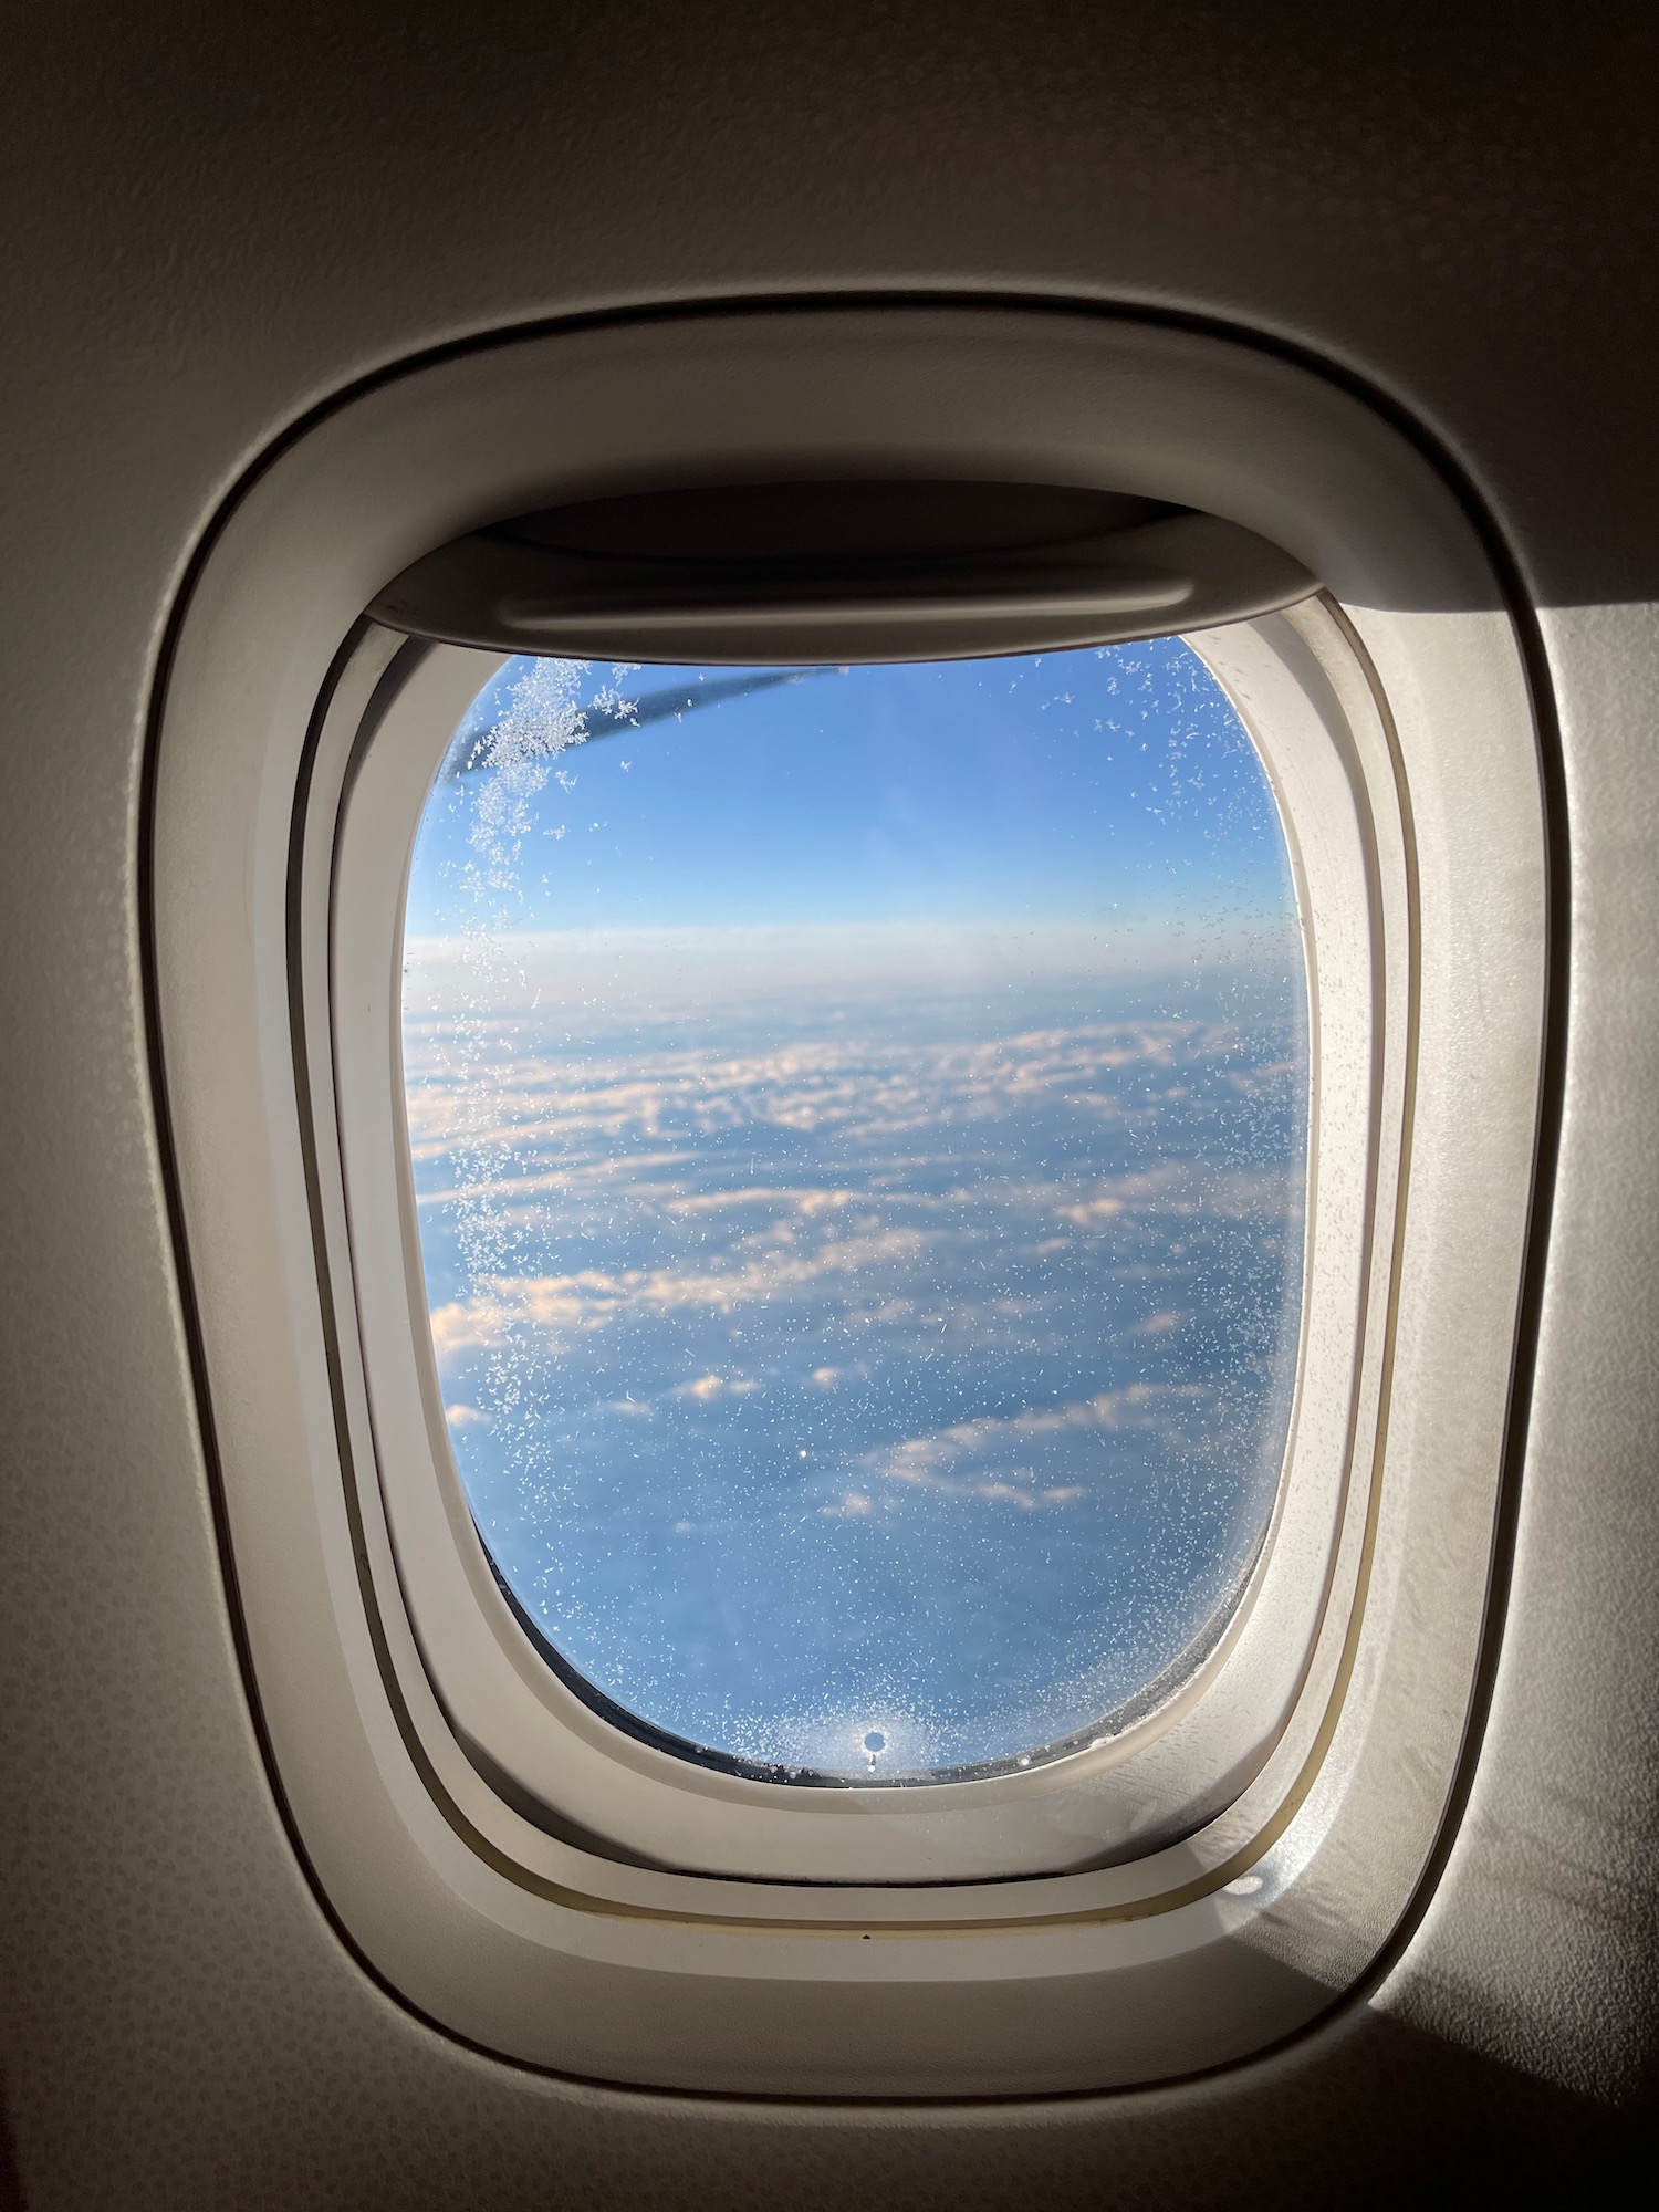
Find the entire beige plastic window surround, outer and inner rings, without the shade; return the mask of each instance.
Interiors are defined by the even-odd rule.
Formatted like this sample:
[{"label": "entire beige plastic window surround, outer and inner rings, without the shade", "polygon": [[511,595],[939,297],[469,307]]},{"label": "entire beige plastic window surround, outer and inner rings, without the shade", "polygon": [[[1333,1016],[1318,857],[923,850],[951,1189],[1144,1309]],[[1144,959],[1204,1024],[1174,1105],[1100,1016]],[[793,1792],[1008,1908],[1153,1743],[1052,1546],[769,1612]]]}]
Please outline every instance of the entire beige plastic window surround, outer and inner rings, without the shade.
[{"label": "entire beige plastic window surround, outer and inner rings, without the shade", "polygon": [[[1208,507],[1343,602],[1194,639],[1281,783],[1316,973],[1272,1544],[1179,1712],[916,1809],[595,1741],[489,1613],[385,1141],[403,858],[489,664],[341,644],[398,566],[549,487],[803,451]],[[982,2095],[1219,2064],[1363,1973],[1480,1648],[1542,1022],[1526,688],[1402,440],[1307,372],[1106,316],[710,316],[465,356],[330,416],[232,513],[157,772],[161,1048],[254,1688],[314,1878],[407,2002],[622,2081]]]}]

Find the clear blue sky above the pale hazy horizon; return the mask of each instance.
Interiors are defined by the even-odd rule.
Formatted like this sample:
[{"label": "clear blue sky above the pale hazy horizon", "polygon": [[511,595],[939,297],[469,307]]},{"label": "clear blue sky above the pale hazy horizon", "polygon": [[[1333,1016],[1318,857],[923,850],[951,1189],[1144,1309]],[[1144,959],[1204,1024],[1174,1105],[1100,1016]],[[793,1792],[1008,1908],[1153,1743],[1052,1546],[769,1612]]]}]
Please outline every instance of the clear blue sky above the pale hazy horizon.
[{"label": "clear blue sky above the pale hazy horizon", "polygon": [[[462,723],[487,730],[535,664]],[[568,664],[566,664],[568,666]],[[1006,661],[814,670],[628,730],[604,695],[728,668],[573,672],[602,741],[526,792],[498,927],[708,929],[993,920],[1212,931],[1281,916],[1283,841],[1230,703],[1179,639]],[[465,739],[462,748],[465,750]],[[411,876],[416,938],[478,916],[480,774],[440,783]]]}]

